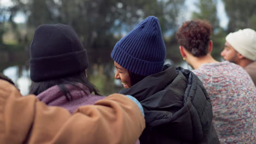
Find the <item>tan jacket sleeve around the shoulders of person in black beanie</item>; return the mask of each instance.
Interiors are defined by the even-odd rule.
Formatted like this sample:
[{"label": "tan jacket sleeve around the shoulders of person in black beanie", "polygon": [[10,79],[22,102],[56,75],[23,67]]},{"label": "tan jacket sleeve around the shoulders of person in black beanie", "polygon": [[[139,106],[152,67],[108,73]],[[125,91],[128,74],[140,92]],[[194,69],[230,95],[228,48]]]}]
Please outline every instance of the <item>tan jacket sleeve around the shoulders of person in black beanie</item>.
[{"label": "tan jacket sleeve around the shoulders of person in black beanie", "polygon": [[135,143],[145,128],[138,106],[121,94],[72,115],[0,80],[0,143]]}]

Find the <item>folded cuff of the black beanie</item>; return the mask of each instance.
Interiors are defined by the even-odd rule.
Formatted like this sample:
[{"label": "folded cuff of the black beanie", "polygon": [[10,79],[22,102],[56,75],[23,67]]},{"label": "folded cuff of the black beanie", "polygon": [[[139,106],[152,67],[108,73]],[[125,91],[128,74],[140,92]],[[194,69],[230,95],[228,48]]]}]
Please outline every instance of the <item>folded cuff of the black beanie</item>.
[{"label": "folded cuff of the black beanie", "polygon": [[81,73],[88,68],[86,50],[64,55],[30,59],[30,77],[34,82],[58,79],[67,75]]}]

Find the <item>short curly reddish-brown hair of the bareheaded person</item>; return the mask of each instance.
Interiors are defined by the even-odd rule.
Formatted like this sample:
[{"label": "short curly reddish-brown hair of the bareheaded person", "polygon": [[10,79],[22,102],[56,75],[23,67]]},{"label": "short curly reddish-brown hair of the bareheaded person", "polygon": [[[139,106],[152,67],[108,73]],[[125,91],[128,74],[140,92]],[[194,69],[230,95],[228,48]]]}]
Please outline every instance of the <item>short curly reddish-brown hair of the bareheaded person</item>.
[{"label": "short curly reddish-brown hair of the bareheaded person", "polygon": [[178,29],[176,38],[178,44],[188,50],[193,56],[205,56],[212,34],[212,26],[206,20],[192,20],[183,23]]}]

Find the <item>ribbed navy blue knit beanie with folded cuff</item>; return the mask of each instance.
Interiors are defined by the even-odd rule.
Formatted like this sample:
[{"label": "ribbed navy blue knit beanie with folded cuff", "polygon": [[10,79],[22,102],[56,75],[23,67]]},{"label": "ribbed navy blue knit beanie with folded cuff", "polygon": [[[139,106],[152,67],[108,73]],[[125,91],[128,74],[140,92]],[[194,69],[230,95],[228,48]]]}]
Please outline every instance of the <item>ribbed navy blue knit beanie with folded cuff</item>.
[{"label": "ribbed navy blue knit beanie with folded cuff", "polygon": [[111,57],[132,73],[148,76],[164,67],[166,48],[157,17],[149,16],[115,44]]}]

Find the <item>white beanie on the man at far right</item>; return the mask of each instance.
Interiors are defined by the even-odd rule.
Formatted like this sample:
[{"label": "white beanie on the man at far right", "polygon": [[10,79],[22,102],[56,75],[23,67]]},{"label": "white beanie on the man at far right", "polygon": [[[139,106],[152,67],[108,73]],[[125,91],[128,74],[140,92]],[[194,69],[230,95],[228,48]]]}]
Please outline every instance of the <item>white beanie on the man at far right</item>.
[{"label": "white beanie on the man at far right", "polygon": [[256,32],[253,29],[240,29],[229,33],[226,41],[242,56],[256,61]]}]

